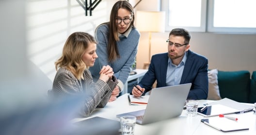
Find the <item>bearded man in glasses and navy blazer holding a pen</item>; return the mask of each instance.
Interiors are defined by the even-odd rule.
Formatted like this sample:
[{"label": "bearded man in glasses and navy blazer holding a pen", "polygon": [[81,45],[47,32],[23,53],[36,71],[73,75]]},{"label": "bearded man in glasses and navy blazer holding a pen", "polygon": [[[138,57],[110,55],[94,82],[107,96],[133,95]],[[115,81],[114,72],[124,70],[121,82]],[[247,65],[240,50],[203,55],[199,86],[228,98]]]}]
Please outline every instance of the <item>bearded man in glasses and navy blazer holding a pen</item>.
[{"label": "bearded man in glasses and navy blazer holding a pen", "polygon": [[155,54],[151,58],[148,71],[131,94],[141,96],[157,87],[192,83],[187,99],[207,99],[208,59],[193,53],[190,48],[190,33],[183,28],[175,28],[169,34],[168,53]]}]

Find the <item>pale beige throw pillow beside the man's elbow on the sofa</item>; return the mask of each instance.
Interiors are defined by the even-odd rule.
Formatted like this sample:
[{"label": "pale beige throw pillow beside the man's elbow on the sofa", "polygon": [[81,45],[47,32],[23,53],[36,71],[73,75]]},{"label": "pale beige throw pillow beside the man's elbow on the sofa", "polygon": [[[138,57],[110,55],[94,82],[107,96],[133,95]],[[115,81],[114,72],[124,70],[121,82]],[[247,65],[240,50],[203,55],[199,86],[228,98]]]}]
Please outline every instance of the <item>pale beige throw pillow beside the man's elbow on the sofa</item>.
[{"label": "pale beige throw pillow beside the man's elbow on the sofa", "polygon": [[218,85],[218,70],[212,69],[208,71],[208,81],[209,81],[209,89],[208,89],[208,100],[220,100],[220,91]]}]

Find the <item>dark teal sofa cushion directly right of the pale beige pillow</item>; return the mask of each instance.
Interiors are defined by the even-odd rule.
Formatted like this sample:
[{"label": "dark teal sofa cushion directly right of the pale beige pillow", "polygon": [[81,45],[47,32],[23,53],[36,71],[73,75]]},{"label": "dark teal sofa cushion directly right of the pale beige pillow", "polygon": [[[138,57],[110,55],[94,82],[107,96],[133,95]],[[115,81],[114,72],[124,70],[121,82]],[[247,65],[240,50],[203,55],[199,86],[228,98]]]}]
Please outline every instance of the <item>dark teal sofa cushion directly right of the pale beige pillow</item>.
[{"label": "dark teal sofa cushion directly right of the pale beige pillow", "polygon": [[221,97],[248,103],[250,90],[250,72],[218,71],[218,83]]}]

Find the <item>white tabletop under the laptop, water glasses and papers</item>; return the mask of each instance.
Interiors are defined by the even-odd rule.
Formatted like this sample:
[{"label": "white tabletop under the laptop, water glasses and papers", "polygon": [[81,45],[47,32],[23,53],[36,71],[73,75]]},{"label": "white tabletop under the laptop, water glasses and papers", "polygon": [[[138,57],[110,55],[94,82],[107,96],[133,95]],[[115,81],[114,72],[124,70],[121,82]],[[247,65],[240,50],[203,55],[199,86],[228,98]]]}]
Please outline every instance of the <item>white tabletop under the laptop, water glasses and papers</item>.
[{"label": "white tabletop under the laptop, water glasses and papers", "polygon": [[[209,103],[209,100],[199,100],[199,107],[203,104]],[[116,118],[116,114],[126,113],[130,111],[136,111],[145,109],[146,106],[129,106],[127,94],[123,94],[118,97],[116,101],[110,102],[105,108],[96,108],[96,110],[89,117],[103,117],[116,121],[120,121]],[[157,114],[156,114],[157,115]],[[247,112],[244,114],[230,114],[239,119],[239,122],[244,122],[249,125],[249,130],[236,131],[224,133],[209,127],[208,125],[200,122],[201,119],[207,119],[203,116],[197,115],[195,117],[187,117],[186,111],[183,110],[179,117],[150,123],[146,125],[136,124],[135,135],[256,135],[256,114],[253,112]],[[217,117],[217,116],[216,116]],[[82,121],[88,118],[74,119],[75,121]]]}]

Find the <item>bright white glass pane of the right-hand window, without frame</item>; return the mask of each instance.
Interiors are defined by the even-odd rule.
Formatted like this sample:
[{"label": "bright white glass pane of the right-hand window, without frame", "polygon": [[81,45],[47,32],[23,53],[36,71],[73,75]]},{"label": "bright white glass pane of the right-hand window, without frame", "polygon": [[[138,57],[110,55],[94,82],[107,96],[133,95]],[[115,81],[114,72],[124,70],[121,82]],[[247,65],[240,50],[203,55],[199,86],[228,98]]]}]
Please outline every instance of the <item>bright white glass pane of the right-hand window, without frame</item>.
[{"label": "bright white glass pane of the right-hand window, without frame", "polygon": [[255,6],[256,0],[214,0],[213,27],[256,27]]}]

